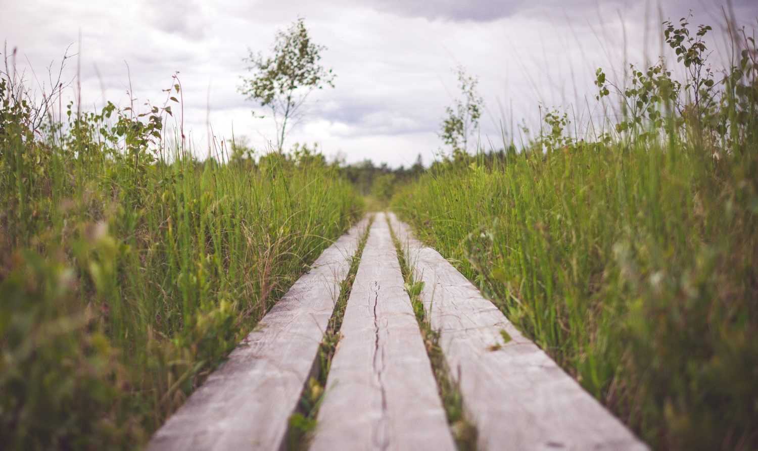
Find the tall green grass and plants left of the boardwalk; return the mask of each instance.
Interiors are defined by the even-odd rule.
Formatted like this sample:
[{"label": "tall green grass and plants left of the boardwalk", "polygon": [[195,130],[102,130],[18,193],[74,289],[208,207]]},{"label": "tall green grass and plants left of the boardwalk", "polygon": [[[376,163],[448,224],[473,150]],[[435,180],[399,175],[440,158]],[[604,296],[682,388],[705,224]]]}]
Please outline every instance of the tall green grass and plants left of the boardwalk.
[{"label": "tall green grass and plants left of the boardwalk", "polygon": [[4,449],[144,443],[360,214],[323,158],[196,161],[176,96],[61,122],[0,80]]}]

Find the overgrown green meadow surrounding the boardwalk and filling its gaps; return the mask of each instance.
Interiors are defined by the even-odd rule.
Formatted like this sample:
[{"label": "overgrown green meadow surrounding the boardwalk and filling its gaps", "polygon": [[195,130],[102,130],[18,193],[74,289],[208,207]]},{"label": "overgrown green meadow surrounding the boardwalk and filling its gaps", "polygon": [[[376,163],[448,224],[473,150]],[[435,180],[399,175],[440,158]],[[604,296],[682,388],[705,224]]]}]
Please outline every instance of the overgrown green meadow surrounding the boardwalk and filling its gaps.
[{"label": "overgrown green meadow surrounding the boardwalk and filling its gaps", "polygon": [[[664,23],[681,80],[674,61],[617,83],[598,69],[605,117],[544,110],[537,136],[475,155],[467,133],[443,138],[429,169],[233,139],[200,159],[174,118],[177,78],[162,105],[84,111],[39,103],[6,70],[0,443],[143,446],[321,251],[389,207],[653,449],[758,448],[758,51],[731,30],[733,61],[712,69],[709,31]],[[315,428],[360,253],[293,449]],[[457,446],[475,449],[399,255]]]}]

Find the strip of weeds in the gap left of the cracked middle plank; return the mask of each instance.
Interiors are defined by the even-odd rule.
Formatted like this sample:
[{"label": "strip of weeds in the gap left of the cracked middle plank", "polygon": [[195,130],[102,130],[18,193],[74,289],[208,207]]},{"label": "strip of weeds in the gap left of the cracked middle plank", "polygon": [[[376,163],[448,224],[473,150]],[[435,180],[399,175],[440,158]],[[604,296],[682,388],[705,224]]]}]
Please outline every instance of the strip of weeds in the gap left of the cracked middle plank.
[{"label": "strip of weeds in the gap left of the cracked middle plank", "polygon": [[342,320],[345,316],[347,299],[350,297],[352,282],[356,280],[356,273],[361,262],[363,249],[368,240],[368,231],[371,230],[371,224],[373,223],[374,218],[372,216],[369,218],[368,224],[362,232],[356,254],[352,256],[350,270],[340,285],[340,296],[334,304],[334,311],[329,318],[327,330],[324,333],[324,338],[321,340],[321,346],[318,347],[318,356],[315,362],[316,377],[310,377],[305,387],[302,388],[299,405],[293,415],[290,416],[290,424],[287,431],[287,449],[308,449],[308,445],[312,439],[312,433],[315,431],[317,425],[318,408],[327,394],[324,391],[324,387],[327,385],[329,368],[334,358],[334,352],[337,350],[337,344],[340,343],[340,338],[342,337],[340,335],[340,327],[342,327]]}]

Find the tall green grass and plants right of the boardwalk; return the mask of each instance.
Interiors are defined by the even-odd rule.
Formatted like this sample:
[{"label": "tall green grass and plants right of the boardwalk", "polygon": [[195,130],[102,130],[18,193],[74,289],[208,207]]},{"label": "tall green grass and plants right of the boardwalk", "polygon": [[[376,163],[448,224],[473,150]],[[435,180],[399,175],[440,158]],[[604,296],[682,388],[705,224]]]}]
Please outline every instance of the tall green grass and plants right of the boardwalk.
[{"label": "tall green grass and plants right of the boardwalk", "polygon": [[550,114],[522,152],[440,164],[393,199],[658,449],[758,448],[758,53],[739,45],[715,83],[635,72],[609,133],[568,138]]}]

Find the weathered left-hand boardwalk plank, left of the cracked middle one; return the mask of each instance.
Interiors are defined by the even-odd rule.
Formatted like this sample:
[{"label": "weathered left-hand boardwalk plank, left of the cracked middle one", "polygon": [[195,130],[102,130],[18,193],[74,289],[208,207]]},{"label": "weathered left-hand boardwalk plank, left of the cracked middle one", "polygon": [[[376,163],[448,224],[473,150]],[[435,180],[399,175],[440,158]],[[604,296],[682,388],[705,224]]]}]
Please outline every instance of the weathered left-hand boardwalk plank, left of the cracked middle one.
[{"label": "weathered left-hand boardwalk plank, left of the cracked middle one", "polygon": [[164,449],[278,449],[368,225],[328,247],[148,445]]}]

